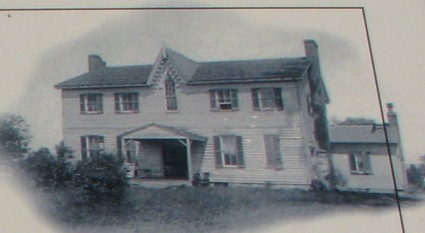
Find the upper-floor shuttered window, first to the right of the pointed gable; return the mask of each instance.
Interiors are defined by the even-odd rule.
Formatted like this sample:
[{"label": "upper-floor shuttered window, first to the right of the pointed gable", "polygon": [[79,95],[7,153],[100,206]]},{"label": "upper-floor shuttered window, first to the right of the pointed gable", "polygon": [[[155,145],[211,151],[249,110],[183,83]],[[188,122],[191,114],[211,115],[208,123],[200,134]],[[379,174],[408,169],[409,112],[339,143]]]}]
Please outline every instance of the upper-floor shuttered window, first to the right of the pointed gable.
[{"label": "upper-floor shuttered window, first to the right of the pointed gable", "polygon": [[210,90],[211,110],[238,110],[238,96],[236,89]]}]

